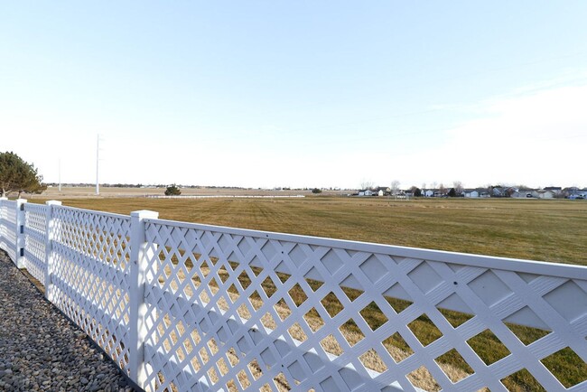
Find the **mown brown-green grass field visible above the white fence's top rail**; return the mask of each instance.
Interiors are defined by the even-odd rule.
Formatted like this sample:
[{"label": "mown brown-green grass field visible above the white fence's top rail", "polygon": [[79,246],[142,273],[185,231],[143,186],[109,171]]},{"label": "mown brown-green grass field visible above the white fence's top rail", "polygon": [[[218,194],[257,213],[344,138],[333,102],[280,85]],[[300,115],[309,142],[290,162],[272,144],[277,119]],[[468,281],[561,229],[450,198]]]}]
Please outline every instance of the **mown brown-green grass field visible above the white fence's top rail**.
[{"label": "mown brown-green grass field visible above the white fence's top rail", "polygon": [[67,206],[123,214],[155,210],[163,219],[587,265],[587,201],[335,196],[60,200]]}]

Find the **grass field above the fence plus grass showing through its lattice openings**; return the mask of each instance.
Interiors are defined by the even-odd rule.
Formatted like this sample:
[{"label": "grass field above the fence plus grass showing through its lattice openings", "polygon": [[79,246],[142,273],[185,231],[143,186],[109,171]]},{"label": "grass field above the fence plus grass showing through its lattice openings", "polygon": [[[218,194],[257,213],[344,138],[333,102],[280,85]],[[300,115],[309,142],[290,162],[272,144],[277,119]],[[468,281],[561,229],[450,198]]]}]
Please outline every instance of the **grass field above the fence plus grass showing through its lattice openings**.
[{"label": "grass field above the fence plus grass showing through its lattice openings", "polygon": [[[395,201],[387,198],[336,196],[268,200],[74,198],[62,201],[67,206],[123,214],[132,210],[155,210],[163,219],[587,265],[587,241],[584,240],[587,229],[585,201]],[[275,287],[264,289],[275,290]],[[387,300],[391,301],[397,312],[409,305],[400,300]],[[284,312],[286,311],[285,309]],[[462,313],[443,312],[453,326],[471,318]],[[375,309],[362,315],[369,323],[377,323],[380,311]],[[306,322],[312,325],[312,322],[321,320],[317,315],[310,315]],[[349,341],[360,338],[356,325],[343,327],[345,338]],[[508,327],[515,331],[520,340],[527,342],[536,341],[547,333],[516,325],[508,324]],[[410,328],[419,337],[424,337],[424,341],[438,338],[438,330],[425,316],[412,322]],[[486,363],[508,355],[508,349],[490,331],[475,339],[469,343]],[[388,339],[384,345],[393,353],[394,358],[402,359],[410,354],[409,346],[399,336]],[[471,368],[455,350],[452,351],[439,360],[447,374],[450,372],[456,381],[470,374]],[[336,348],[331,352],[337,354]],[[548,369],[558,369],[557,377],[567,387],[587,377],[587,366],[582,359],[573,355],[572,351],[562,350],[548,359],[552,363],[545,362]],[[373,360],[373,363],[371,369],[380,370],[377,368],[377,360]],[[413,382],[418,387],[438,390],[429,375],[415,375],[415,378]],[[512,391],[544,390],[526,370],[508,377],[504,383]]]}]

